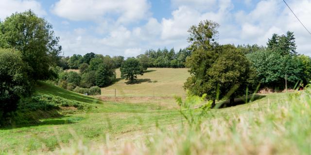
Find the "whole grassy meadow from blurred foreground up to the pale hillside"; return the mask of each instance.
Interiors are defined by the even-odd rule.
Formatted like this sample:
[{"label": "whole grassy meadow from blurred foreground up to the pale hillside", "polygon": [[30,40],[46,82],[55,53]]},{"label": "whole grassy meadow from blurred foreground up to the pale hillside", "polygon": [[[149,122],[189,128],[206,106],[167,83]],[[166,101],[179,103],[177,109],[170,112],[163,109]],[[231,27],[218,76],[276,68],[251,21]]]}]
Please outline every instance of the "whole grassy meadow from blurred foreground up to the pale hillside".
[{"label": "whole grassy meadow from blurred foreground up to the pale hillside", "polygon": [[[187,78],[186,69],[153,70],[156,71],[139,78],[150,78],[155,83],[126,85],[120,80],[102,91],[158,84],[168,96],[173,96],[174,88],[176,94],[185,94],[181,87]],[[156,72],[169,76],[155,76]],[[259,150],[267,151],[262,154],[311,153],[311,109],[302,104],[305,100],[310,103],[310,97],[289,98],[295,93],[260,94],[263,98],[249,104],[211,109],[202,118],[200,132],[187,129],[173,97],[124,94],[93,98],[45,82],[39,82],[36,93],[60,96],[91,108],[71,113],[60,110],[61,117],[42,119],[39,124],[0,128],[0,154],[260,154]],[[300,105],[307,106],[305,111],[301,111]],[[277,143],[278,140],[283,141]],[[297,144],[293,145],[294,141]]]}]

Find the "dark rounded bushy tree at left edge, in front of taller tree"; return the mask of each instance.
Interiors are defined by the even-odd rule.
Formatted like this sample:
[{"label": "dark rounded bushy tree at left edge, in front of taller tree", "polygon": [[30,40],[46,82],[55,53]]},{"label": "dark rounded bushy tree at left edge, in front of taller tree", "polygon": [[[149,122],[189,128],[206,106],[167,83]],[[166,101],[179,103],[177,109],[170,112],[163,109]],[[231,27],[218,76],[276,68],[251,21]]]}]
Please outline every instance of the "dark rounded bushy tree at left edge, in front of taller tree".
[{"label": "dark rounded bushy tree at left edge, in front of taller tree", "polygon": [[17,108],[20,97],[31,94],[20,52],[0,48],[0,119]]}]

